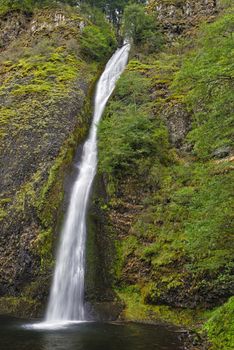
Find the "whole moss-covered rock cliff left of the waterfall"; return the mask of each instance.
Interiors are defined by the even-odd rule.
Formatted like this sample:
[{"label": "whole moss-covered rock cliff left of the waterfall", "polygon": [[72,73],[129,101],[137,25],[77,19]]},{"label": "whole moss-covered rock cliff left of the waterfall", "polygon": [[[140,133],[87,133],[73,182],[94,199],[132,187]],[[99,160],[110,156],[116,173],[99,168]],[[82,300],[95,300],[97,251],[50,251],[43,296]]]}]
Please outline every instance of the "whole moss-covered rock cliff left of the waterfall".
[{"label": "whole moss-covered rock cliff left of the waterfall", "polygon": [[1,312],[35,315],[48,295],[64,177],[116,47],[105,19],[90,17],[69,6],[0,15]]}]

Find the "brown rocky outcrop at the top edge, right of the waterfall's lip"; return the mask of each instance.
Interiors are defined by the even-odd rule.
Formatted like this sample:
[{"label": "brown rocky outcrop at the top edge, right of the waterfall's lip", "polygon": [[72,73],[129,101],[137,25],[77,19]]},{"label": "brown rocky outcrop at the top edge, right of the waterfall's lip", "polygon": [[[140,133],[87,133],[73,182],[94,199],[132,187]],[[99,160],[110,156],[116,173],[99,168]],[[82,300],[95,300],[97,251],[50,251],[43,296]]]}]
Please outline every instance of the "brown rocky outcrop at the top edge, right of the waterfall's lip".
[{"label": "brown rocky outcrop at the top edge, right of the waterfall's lip", "polygon": [[172,40],[197,26],[203,18],[212,17],[216,12],[216,0],[151,0],[150,9],[158,15],[158,20]]}]

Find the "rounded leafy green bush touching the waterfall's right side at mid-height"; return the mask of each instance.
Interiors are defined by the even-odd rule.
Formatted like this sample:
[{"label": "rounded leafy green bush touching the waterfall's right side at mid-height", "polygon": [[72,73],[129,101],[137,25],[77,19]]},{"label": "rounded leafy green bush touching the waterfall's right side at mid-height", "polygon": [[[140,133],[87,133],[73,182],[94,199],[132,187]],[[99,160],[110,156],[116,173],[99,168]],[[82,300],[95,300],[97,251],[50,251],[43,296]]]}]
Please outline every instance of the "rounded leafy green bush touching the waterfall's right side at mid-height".
[{"label": "rounded leafy green bush touching the waterfall's right side at mid-height", "polygon": [[139,169],[140,160],[154,155],[163,158],[167,147],[165,127],[149,119],[133,105],[125,112],[106,118],[99,128],[99,167],[102,172],[125,174]]}]

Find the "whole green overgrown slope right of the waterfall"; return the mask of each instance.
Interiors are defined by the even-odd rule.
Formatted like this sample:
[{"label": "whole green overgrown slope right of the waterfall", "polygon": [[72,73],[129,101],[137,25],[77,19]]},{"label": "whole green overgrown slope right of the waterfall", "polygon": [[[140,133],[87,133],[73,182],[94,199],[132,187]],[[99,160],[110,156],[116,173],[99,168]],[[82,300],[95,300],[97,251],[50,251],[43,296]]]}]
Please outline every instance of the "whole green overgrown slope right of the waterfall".
[{"label": "whole green overgrown slope right of the waterfall", "polygon": [[[99,128],[102,213],[116,235],[110,271],[125,317],[198,330],[208,320],[217,350],[233,347],[233,300],[205,311],[233,291],[233,19],[228,8],[193,45],[178,40],[157,56],[139,46]],[[181,115],[190,128],[175,149]]]}]

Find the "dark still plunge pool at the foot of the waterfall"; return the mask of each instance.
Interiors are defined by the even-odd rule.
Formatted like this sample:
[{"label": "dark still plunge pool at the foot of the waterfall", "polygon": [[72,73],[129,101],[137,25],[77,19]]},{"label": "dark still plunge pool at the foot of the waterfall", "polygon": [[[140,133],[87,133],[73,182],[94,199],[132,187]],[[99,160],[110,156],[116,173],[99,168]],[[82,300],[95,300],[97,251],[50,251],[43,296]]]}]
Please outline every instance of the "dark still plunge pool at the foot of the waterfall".
[{"label": "dark still plunge pool at the foot of the waterfall", "polygon": [[35,321],[0,316],[1,350],[180,350],[173,328],[138,323],[64,323],[33,327]]}]

